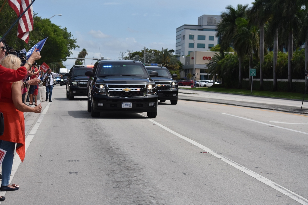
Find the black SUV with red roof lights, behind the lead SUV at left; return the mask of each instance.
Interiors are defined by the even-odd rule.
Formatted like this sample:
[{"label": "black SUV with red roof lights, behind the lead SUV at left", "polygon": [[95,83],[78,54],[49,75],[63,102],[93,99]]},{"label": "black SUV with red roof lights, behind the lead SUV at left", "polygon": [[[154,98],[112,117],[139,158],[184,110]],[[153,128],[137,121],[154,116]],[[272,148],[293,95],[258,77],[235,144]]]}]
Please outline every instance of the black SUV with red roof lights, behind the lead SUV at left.
[{"label": "black SUV with red roof lights, behind the lead SUV at left", "polygon": [[87,96],[87,71],[92,71],[93,66],[73,66],[66,73],[66,98],[73,100],[75,96]]}]

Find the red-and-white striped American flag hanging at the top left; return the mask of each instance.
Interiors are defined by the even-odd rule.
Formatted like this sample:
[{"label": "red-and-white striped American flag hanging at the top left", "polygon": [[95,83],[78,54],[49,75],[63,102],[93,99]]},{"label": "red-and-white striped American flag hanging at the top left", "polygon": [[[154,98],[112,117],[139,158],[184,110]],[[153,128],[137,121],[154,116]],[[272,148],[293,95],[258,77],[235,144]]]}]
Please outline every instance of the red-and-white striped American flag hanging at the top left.
[{"label": "red-and-white striped American flag hanging at the top left", "polygon": [[[31,0],[8,0],[10,7],[16,12],[19,17],[24,10],[29,6]],[[19,19],[17,36],[26,43],[29,41],[29,33],[33,30],[33,9],[32,6],[26,11],[26,13]]]}]

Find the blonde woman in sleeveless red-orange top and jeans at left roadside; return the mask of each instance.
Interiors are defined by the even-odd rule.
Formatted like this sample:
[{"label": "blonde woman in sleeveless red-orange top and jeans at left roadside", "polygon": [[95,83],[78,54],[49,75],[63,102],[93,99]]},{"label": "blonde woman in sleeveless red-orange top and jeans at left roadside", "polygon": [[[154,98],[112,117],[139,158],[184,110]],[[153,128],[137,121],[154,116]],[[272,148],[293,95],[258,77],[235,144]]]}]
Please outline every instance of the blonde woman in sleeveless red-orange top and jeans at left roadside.
[{"label": "blonde woman in sleeveless red-orange top and jeans at left roadside", "polygon": [[[6,68],[17,70],[21,61],[15,55],[7,55],[0,64]],[[29,107],[22,103],[22,81],[3,83],[3,92],[0,98],[0,107],[4,115],[4,133],[0,136],[0,148],[6,150],[2,162],[2,182],[0,191],[15,191],[19,189],[17,184],[9,184],[12,171],[14,149],[23,162],[25,159],[25,121],[23,112],[40,113],[42,107]],[[0,198],[0,201],[2,198]]]}]

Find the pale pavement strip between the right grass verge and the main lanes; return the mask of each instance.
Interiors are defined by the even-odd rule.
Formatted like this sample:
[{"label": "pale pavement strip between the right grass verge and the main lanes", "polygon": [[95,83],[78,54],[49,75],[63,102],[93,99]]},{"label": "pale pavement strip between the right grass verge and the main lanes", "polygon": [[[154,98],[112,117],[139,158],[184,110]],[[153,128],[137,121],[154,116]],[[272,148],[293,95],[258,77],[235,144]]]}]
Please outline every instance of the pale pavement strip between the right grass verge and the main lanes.
[{"label": "pale pavement strip between the right grass verge and the main lanes", "polygon": [[271,98],[262,99],[262,97],[239,96],[239,95],[221,94],[221,93],[212,94],[205,91],[185,90],[185,89],[179,90],[178,99],[308,114],[307,102],[304,102],[303,108],[301,110],[302,102],[287,100],[287,99],[271,99]]}]

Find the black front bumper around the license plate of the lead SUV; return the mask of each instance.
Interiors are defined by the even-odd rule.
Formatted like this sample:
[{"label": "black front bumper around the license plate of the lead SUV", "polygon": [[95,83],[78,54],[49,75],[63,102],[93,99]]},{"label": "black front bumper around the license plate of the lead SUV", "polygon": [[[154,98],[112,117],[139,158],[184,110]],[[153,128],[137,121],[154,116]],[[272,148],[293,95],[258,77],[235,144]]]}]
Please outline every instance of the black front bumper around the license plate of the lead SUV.
[{"label": "black front bumper around the license plate of the lead SUV", "polygon": [[[122,102],[132,102],[132,107],[122,108]],[[98,103],[103,103],[103,106],[98,106]],[[149,106],[149,103],[154,103],[154,106]],[[140,98],[113,98],[100,94],[94,94],[92,97],[92,106],[95,112],[157,112],[157,104],[157,94],[146,95]]]}]

